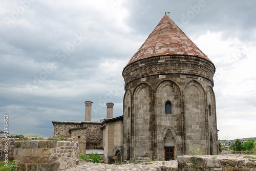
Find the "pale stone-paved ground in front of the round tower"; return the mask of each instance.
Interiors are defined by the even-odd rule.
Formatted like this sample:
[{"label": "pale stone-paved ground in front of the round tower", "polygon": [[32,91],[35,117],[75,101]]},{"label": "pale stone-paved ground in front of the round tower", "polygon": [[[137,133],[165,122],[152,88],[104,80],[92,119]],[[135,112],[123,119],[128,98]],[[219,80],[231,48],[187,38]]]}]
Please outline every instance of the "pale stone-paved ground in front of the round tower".
[{"label": "pale stone-paved ground in front of the round tower", "polygon": [[66,169],[65,171],[84,171],[84,170],[90,170],[90,171],[130,171],[130,170],[164,170],[164,171],[177,171],[178,170],[178,163],[177,160],[174,161],[164,161],[164,165],[162,164],[162,161],[154,161],[152,164],[146,164],[146,163],[138,163],[138,164],[121,164],[121,165],[115,165],[115,164],[101,164],[101,163],[92,163],[92,162],[84,162],[80,161],[79,165],[75,165],[71,168]]}]

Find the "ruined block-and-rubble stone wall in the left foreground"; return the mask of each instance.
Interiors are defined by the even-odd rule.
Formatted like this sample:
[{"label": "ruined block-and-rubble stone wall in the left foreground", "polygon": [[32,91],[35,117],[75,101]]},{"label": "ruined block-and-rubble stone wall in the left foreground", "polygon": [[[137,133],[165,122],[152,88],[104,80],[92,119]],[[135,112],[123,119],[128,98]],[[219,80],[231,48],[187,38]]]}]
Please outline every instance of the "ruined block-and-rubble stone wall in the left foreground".
[{"label": "ruined block-and-rubble stone wall in the left foreground", "polygon": [[16,141],[14,159],[19,163],[17,170],[64,170],[75,165],[77,142],[71,141]]}]

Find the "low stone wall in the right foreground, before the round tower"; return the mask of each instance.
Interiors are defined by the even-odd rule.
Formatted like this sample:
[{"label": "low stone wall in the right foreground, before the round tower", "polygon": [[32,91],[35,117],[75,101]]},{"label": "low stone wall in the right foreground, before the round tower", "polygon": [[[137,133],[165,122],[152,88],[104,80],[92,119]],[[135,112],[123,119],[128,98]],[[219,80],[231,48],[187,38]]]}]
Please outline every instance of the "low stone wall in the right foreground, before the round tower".
[{"label": "low stone wall in the right foreground, before the round tower", "polygon": [[256,155],[179,156],[178,171],[256,171]]}]

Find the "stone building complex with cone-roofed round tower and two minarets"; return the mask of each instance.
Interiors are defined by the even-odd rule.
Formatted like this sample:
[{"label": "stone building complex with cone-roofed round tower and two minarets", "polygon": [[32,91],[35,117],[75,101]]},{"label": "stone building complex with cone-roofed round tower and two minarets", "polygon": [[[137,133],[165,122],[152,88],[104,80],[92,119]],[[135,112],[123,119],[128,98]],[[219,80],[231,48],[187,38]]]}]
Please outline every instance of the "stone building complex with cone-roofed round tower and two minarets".
[{"label": "stone building complex with cone-roofed round tower and two minarets", "polygon": [[[214,63],[166,13],[123,69],[123,115],[91,121],[53,122],[54,136],[73,137],[86,149],[101,148],[104,160],[175,160],[191,146],[218,154]],[[109,111],[108,111],[109,110]]]}]

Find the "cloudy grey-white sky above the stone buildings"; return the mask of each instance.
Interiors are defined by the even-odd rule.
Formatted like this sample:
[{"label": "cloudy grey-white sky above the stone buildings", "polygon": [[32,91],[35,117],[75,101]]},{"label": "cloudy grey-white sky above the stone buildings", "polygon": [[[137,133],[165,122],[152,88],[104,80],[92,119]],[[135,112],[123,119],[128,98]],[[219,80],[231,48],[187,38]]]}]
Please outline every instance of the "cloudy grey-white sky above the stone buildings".
[{"label": "cloudy grey-white sky above the stone buildings", "polygon": [[[51,121],[122,115],[122,70],[164,12],[215,63],[219,139],[256,137],[252,0],[2,0],[0,130],[53,135]],[[35,123],[33,123],[35,122]]]}]

